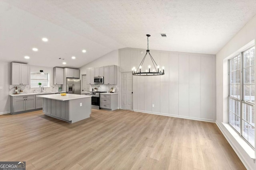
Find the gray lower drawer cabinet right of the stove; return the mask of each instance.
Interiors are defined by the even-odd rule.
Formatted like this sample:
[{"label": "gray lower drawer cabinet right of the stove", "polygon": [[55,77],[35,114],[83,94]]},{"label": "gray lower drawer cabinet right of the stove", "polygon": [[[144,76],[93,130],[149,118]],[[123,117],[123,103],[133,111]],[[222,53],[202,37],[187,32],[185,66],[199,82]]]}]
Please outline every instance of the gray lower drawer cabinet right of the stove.
[{"label": "gray lower drawer cabinet right of the stove", "polygon": [[100,94],[100,107],[103,109],[118,109],[118,94]]}]

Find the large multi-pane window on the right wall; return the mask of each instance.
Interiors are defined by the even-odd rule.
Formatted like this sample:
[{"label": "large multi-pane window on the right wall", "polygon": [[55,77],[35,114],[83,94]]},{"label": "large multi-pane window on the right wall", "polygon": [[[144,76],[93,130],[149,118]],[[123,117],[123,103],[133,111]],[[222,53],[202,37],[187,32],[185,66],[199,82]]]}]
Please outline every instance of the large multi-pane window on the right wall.
[{"label": "large multi-pane window on the right wall", "polygon": [[253,148],[255,147],[254,50],[255,47],[251,47],[228,61],[228,123]]}]

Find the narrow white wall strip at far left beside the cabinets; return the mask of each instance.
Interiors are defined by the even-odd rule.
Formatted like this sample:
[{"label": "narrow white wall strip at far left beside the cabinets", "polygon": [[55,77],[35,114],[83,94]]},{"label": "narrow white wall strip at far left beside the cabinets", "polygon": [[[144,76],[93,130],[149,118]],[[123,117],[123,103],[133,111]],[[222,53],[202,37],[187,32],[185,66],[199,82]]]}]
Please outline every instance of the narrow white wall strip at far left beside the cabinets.
[{"label": "narrow white wall strip at far left beside the cabinets", "polygon": [[10,113],[10,63],[0,61],[0,114]]}]

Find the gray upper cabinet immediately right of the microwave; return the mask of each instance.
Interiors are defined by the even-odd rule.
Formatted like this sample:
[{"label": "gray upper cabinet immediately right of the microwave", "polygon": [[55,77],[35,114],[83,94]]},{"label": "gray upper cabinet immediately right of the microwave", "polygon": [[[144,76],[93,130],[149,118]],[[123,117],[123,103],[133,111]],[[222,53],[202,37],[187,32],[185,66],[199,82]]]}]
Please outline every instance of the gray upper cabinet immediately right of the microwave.
[{"label": "gray upper cabinet immediately right of the microwave", "polygon": [[104,66],[104,84],[117,84],[117,66]]}]

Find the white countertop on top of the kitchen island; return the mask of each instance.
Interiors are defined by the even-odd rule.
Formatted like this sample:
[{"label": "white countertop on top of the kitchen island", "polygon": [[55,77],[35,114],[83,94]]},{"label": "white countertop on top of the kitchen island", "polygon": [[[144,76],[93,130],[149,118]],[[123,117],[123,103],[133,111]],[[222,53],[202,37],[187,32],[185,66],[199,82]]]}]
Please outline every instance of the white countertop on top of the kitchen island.
[{"label": "white countertop on top of the kitchen island", "polygon": [[74,99],[80,99],[80,98],[90,98],[92,96],[80,95],[80,94],[67,94],[66,96],[61,96],[60,94],[48,94],[48,95],[39,95],[38,97],[65,101],[65,100],[74,100]]}]

